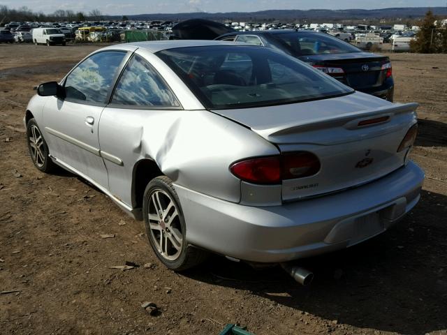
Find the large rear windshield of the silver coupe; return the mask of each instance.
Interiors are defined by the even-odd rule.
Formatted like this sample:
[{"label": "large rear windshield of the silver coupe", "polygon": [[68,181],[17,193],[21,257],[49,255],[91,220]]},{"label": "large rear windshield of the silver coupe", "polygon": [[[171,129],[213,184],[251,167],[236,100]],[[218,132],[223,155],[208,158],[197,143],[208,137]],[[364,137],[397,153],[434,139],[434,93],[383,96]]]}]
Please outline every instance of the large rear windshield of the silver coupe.
[{"label": "large rear windshield of the silver coupe", "polygon": [[294,103],[353,91],[307,64],[267,47],[182,47],[157,55],[205,107],[212,109]]}]

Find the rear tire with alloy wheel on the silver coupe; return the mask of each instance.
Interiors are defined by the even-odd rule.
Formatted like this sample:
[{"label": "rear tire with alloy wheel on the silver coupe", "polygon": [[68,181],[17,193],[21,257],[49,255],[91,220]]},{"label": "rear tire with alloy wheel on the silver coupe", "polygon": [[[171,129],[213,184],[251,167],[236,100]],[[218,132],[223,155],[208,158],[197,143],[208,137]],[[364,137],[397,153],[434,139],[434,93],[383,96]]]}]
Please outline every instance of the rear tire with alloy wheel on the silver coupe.
[{"label": "rear tire with alloy wheel on the silver coupe", "polygon": [[205,251],[186,241],[186,223],[173,181],[165,176],[152,179],[146,186],[142,208],[149,244],[163,265],[182,271],[206,260]]}]

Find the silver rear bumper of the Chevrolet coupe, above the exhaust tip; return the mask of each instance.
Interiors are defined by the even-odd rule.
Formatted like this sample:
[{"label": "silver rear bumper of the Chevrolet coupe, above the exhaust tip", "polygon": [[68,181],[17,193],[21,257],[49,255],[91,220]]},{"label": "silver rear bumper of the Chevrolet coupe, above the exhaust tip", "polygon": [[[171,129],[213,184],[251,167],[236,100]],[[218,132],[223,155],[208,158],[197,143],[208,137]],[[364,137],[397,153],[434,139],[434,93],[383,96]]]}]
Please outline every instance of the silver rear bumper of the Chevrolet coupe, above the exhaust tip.
[{"label": "silver rear bumper of the Chevrolet coupe, above the exhaust tip", "polygon": [[369,184],[274,207],[249,207],[175,188],[189,243],[250,262],[285,262],[384,232],[416,205],[423,179],[423,170],[410,161]]}]

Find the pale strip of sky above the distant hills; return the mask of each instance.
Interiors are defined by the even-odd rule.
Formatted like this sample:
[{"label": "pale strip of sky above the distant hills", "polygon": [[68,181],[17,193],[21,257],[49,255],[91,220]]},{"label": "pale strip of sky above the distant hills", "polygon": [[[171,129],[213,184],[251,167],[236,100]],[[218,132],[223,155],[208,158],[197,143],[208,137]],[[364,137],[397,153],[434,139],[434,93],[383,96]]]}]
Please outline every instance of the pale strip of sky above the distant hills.
[{"label": "pale strip of sky above the distant hills", "polygon": [[197,11],[252,12],[266,9],[437,7],[447,6],[447,0],[0,0],[0,5],[6,5],[9,8],[27,6],[31,10],[43,13],[52,13],[57,9],[89,12],[97,8],[103,14],[132,15]]}]

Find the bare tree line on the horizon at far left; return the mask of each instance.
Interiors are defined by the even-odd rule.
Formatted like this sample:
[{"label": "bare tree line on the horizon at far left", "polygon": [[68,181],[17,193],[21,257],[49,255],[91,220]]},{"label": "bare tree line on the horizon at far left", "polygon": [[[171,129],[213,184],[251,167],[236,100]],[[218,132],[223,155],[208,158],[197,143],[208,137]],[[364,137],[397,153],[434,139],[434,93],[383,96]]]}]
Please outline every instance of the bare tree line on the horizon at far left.
[{"label": "bare tree line on the horizon at far left", "polygon": [[1,26],[9,22],[73,22],[85,20],[103,20],[103,14],[98,9],[91,10],[89,13],[59,9],[52,14],[44,14],[42,12],[34,12],[27,7],[10,9],[8,6],[0,6]]}]

